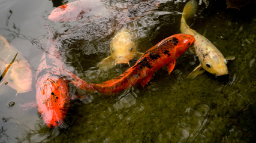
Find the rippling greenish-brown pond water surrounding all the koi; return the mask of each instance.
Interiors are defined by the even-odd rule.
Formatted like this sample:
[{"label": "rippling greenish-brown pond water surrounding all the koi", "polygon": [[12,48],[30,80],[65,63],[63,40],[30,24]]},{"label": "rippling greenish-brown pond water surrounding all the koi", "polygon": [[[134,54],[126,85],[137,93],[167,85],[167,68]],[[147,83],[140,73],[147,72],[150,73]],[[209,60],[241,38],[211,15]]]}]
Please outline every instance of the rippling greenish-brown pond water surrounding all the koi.
[{"label": "rippling greenish-brown pond water surrounding all the koi", "polygon": [[[134,31],[138,51],[145,52],[180,33],[187,1],[160,1],[152,11],[134,18],[132,14],[139,14],[131,5],[141,1],[107,0],[97,3],[103,9],[89,21],[47,20],[55,7],[68,2],[0,0],[0,35],[22,52],[33,77],[32,91],[17,97],[14,89],[0,85],[0,142],[255,142],[255,4],[236,10],[227,9],[225,1],[210,1],[208,7],[199,1],[197,13],[187,23],[224,57],[236,57],[227,64],[229,74],[216,77],[205,72],[186,79],[199,64],[186,51],[170,75],[162,67],[146,86],[135,85],[112,97],[70,84],[72,100],[65,123],[48,128],[35,101],[35,73],[49,38],[45,22],[68,70],[88,82],[102,83],[129,68],[118,65],[104,71],[97,67],[110,55],[110,41],[118,30]],[[155,1],[150,4],[156,5]],[[136,61],[130,61],[131,66]],[[15,104],[9,105],[11,101]]]}]

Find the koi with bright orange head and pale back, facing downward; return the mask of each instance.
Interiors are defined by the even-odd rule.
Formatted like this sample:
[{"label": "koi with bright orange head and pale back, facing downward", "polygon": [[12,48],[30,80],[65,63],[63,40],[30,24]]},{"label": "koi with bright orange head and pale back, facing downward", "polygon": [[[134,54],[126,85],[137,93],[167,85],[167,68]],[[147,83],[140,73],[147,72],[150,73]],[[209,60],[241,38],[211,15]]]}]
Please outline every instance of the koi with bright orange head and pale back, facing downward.
[{"label": "koi with bright orange head and pale back, facing downward", "polygon": [[[70,107],[69,77],[76,75],[65,69],[55,40],[50,40],[48,46],[36,73],[36,101],[44,122],[49,128],[53,128],[64,123]],[[79,77],[76,79],[82,80]]]}]

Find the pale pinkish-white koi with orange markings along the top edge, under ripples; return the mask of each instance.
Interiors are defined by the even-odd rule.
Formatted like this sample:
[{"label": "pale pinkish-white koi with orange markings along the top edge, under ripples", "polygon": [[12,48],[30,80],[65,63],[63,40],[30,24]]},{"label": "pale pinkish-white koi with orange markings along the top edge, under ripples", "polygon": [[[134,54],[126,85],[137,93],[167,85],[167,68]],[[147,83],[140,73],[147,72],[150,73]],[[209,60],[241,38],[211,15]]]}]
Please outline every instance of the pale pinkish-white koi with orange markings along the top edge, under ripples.
[{"label": "pale pinkish-white koi with orange markings along the top edge, under ripples", "polygon": [[[135,2],[129,4],[129,8],[124,8],[128,15],[127,18],[121,18],[124,21],[127,21],[128,19],[135,20],[142,17],[147,12],[153,10],[153,8],[158,7],[159,1],[138,2],[138,4],[133,5],[134,7],[131,6],[132,4],[135,4]],[[83,18],[89,20],[93,17],[100,17],[100,15],[106,15],[107,17],[113,15],[109,9],[106,8],[103,1],[79,0],[55,8],[50,13],[48,19],[52,21],[77,21],[82,20]]]}]

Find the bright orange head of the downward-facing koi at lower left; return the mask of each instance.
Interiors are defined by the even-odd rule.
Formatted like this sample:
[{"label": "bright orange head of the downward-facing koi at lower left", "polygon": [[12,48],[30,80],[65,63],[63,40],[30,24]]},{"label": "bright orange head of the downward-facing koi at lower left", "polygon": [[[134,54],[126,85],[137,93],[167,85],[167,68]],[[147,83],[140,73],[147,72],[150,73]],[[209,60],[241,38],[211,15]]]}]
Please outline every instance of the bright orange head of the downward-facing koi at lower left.
[{"label": "bright orange head of the downward-facing koi at lower left", "polygon": [[[38,112],[49,128],[62,125],[70,107],[68,82],[62,77],[49,76],[37,85]],[[38,89],[40,88],[40,89]]]}]

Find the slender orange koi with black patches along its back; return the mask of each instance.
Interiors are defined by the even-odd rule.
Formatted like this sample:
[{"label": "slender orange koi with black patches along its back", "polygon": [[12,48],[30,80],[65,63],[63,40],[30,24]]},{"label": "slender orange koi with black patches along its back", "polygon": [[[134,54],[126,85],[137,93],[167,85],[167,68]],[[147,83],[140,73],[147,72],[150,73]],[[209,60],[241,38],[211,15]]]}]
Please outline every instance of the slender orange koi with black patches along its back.
[{"label": "slender orange koi with black patches along its back", "polygon": [[116,94],[138,83],[141,86],[145,86],[153,76],[153,73],[166,64],[170,74],[174,69],[176,58],[182,55],[193,42],[194,37],[192,35],[176,34],[165,38],[148,49],[134,66],[114,79],[94,84],[73,77],[75,80],[71,82],[80,89],[85,89],[89,92],[100,92],[105,95]]}]

